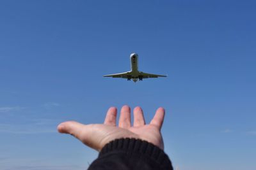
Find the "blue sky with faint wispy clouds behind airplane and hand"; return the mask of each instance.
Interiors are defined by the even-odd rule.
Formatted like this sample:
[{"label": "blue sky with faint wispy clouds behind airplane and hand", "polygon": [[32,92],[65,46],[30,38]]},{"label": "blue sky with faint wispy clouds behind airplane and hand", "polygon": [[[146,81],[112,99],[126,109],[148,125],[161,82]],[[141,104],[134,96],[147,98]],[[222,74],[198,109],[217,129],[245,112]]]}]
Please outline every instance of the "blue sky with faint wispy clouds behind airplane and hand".
[{"label": "blue sky with faint wispy clouds behind airplane and hand", "polygon": [[[58,134],[110,106],[163,106],[180,170],[256,169],[255,1],[1,1],[0,169],[85,169],[97,152]],[[103,78],[139,69],[167,78]]]}]

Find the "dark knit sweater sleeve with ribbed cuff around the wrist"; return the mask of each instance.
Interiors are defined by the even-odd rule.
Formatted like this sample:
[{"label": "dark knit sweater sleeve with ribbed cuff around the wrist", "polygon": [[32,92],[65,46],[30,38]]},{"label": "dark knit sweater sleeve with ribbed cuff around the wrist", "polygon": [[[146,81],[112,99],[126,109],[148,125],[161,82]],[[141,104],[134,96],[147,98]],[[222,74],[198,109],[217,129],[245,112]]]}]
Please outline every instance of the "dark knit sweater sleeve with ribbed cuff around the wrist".
[{"label": "dark knit sweater sleeve with ribbed cuff around the wrist", "polygon": [[134,169],[173,170],[172,163],[163,150],[140,139],[116,139],[105,145],[99,157],[88,170]]}]

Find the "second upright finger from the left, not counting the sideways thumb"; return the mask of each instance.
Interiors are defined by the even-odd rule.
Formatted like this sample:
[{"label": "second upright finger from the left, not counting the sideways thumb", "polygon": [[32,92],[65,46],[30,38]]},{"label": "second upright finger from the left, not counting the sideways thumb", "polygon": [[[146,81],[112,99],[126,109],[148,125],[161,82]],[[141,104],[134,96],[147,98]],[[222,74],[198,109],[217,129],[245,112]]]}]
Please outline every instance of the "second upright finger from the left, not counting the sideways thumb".
[{"label": "second upright finger from the left, not counting the sideways thumb", "polygon": [[119,127],[125,129],[131,127],[131,109],[127,105],[123,106],[121,109]]}]

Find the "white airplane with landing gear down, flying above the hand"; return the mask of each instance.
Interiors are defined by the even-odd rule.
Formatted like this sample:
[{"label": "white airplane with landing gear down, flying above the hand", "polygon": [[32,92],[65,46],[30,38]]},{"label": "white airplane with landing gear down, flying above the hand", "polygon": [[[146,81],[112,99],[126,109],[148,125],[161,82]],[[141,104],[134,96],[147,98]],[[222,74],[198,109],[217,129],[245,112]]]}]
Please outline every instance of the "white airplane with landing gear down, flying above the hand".
[{"label": "white airplane with landing gear down, flying above the hand", "polygon": [[138,70],[138,54],[132,53],[130,55],[131,59],[131,71],[127,71],[125,73],[118,73],[118,74],[108,74],[104,77],[113,77],[113,78],[127,78],[128,81],[131,81],[131,79],[136,82],[138,79],[140,81],[143,80],[143,78],[158,78],[158,77],[166,77],[164,75],[157,75],[157,74],[150,74],[150,73],[143,73],[142,71]]}]

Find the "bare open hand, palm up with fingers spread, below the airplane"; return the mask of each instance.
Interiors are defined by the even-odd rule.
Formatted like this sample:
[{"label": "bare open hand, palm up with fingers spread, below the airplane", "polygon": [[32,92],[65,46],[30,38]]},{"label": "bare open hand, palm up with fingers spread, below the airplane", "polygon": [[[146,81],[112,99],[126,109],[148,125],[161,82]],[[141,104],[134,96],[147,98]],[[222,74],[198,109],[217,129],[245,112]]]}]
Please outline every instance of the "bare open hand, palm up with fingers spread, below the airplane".
[{"label": "bare open hand, palm up with fingers spread, below the airplane", "polygon": [[104,124],[84,125],[78,122],[63,122],[58,125],[60,133],[72,134],[85,145],[100,151],[107,143],[120,138],[136,138],[148,141],[163,150],[164,143],[161,136],[161,126],[164,120],[164,109],[158,108],[150,124],[145,124],[143,111],[134,108],[134,124],[131,125],[131,109],[123,106],[119,124],[116,126],[117,110],[109,108]]}]

